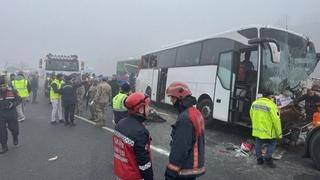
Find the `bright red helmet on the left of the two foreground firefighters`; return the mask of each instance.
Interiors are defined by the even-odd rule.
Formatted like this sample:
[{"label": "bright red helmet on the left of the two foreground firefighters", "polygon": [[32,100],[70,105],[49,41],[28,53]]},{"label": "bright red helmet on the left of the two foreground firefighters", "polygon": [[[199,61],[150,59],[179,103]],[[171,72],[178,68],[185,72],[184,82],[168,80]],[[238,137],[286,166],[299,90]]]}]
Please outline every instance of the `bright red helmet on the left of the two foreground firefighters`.
[{"label": "bright red helmet on the left of the two foreground firefighters", "polygon": [[149,104],[150,98],[141,92],[132,93],[130,96],[127,97],[124,103],[130,114],[139,113],[139,109],[142,106],[146,106]]}]

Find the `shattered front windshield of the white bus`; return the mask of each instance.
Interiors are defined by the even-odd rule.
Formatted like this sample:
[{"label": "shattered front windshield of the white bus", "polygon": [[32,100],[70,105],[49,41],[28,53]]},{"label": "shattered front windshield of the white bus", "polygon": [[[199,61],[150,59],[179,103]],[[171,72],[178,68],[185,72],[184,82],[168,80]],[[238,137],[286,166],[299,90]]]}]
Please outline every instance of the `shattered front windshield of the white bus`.
[{"label": "shattered front windshield of the white bus", "polygon": [[273,38],[280,45],[280,63],[272,63],[270,51],[262,49],[260,91],[281,94],[293,89],[314,70],[317,60],[314,45],[307,39],[285,31],[262,28],[262,38]]}]

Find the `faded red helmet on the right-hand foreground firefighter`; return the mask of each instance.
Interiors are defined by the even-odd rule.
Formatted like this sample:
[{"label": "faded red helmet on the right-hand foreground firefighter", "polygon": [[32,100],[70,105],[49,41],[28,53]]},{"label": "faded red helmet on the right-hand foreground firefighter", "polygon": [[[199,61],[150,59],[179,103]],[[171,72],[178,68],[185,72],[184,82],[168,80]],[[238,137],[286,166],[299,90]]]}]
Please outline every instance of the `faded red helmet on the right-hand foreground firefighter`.
[{"label": "faded red helmet on the right-hand foreground firefighter", "polygon": [[173,96],[179,99],[183,99],[186,96],[192,95],[188,85],[183,82],[173,82],[169,85],[166,91],[168,96]]}]

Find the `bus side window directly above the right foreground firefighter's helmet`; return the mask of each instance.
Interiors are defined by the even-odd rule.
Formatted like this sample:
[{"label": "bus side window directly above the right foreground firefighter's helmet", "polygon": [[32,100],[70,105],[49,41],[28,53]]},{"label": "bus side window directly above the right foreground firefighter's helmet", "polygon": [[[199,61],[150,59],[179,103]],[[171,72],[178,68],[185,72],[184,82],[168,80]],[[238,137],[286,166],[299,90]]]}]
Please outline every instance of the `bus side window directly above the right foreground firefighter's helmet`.
[{"label": "bus side window directly above the right foreground firefighter's helmet", "polygon": [[178,49],[176,66],[198,65],[200,61],[201,43],[182,46]]}]

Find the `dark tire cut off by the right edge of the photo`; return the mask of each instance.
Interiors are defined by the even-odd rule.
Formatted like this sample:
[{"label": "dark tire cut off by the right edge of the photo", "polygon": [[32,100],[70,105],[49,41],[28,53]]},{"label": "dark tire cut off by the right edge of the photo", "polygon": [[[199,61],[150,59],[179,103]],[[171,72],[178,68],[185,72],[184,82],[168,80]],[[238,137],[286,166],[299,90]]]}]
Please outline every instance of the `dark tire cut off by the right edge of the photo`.
[{"label": "dark tire cut off by the right edge of the photo", "polygon": [[320,170],[320,130],[312,135],[310,140],[310,155],[316,168]]}]

